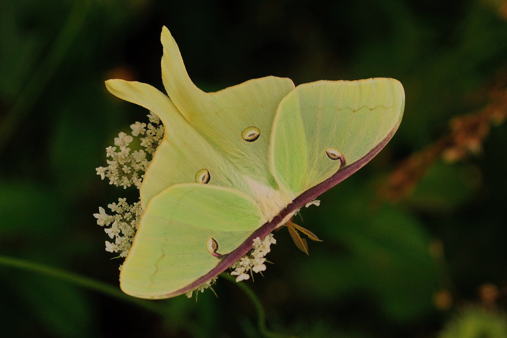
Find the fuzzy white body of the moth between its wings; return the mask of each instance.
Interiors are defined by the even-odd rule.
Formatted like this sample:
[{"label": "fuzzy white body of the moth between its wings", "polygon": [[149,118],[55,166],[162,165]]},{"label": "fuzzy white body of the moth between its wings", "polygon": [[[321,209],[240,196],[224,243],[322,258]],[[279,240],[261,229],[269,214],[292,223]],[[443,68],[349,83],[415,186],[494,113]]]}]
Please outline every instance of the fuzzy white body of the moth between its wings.
[{"label": "fuzzy white body of the moth between its wings", "polygon": [[244,177],[265,222],[272,220],[274,216],[278,215],[283,208],[292,202],[291,195],[274,190],[272,187],[248,176]]}]

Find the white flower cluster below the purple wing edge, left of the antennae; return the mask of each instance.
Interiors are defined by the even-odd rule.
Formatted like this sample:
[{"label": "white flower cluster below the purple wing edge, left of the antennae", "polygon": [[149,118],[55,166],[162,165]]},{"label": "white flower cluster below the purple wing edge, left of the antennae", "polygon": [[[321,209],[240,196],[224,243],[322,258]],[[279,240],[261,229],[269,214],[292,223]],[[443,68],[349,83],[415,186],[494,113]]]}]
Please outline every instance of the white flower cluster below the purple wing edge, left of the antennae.
[{"label": "white flower cluster below the purple wing edge, left of the antennae", "polygon": [[265,256],[271,251],[269,248],[271,244],[276,244],[273,234],[269,234],[262,241],[259,237],[253,240],[253,249],[231,266],[231,269],[234,269],[231,275],[238,276],[236,282],[249,279],[250,275],[253,278],[252,271],[258,273],[266,270],[266,265],[264,265]]}]

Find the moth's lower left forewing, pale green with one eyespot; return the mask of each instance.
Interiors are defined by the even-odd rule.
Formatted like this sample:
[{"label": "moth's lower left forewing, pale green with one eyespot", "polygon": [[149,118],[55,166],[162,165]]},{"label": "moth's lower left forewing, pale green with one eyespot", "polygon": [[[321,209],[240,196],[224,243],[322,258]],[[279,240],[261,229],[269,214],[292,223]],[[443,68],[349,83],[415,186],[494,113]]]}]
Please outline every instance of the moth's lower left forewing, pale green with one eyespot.
[{"label": "moth's lower left forewing, pale green with one eyespot", "polygon": [[[185,293],[227,269],[213,272],[262,222],[256,203],[239,191],[173,185],[152,198],[144,211],[122,265],[121,289],[141,298]],[[215,255],[207,249],[210,238],[218,244]]]}]

